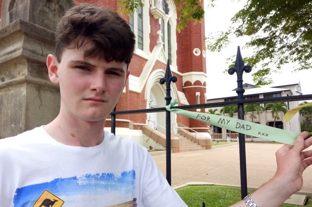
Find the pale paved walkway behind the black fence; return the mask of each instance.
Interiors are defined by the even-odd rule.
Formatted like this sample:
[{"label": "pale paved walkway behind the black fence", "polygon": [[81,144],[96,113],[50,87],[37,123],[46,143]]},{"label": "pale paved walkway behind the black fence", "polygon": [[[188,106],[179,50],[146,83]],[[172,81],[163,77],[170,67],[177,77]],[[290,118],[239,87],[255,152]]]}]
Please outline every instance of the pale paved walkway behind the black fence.
[{"label": "pale paved walkway behind the black fence", "polygon": [[[259,188],[276,171],[275,152],[283,144],[246,143],[247,185]],[[312,149],[312,147],[310,147]],[[166,176],[166,155],[153,155],[160,171]],[[209,182],[240,186],[238,143],[214,147],[212,150],[173,153],[171,155],[172,187],[189,182]],[[312,193],[312,166],[303,174],[300,190]]]}]

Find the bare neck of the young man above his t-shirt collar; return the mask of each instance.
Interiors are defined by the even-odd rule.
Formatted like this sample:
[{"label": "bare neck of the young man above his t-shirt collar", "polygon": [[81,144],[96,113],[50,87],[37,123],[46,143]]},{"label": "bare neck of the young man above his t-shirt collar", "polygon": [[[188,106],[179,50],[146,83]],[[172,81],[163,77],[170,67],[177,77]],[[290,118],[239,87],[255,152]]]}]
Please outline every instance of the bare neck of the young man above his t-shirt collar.
[{"label": "bare neck of the young man above his t-shirt collar", "polygon": [[47,133],[60,143],[70,146],[93,147],[104,139],[103,121],[70,121],[59,116],[44,126]]}]

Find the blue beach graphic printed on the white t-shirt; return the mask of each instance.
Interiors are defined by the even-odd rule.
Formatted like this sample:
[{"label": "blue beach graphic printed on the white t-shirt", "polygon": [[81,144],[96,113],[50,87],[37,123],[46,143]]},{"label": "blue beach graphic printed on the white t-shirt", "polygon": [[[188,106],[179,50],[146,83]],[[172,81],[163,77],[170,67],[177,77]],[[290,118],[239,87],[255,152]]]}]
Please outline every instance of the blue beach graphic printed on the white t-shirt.
[{"label": "blue beach graphic printed on the white t-shirt", "polygon": [[133,200],[136,173],[97,173],[57,178],[51,182],[25,186],[15,191],[14,207],[32,207],[44,190],[64,201],[64,206],[103,207]]}]

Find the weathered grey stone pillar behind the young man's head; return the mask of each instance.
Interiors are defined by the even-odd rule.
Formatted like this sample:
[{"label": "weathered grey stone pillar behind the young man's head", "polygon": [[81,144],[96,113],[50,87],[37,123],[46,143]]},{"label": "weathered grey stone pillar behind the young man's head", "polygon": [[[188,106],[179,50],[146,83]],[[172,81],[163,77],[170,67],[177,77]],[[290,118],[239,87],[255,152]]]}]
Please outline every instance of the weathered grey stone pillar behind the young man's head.
[{"label": "weathered grey stone pillar behind the young man's head", "polygon": [[72,0],[4,0],[0,28],[0,138],[47,124],[59,113],[48,78],[55,27]]}]

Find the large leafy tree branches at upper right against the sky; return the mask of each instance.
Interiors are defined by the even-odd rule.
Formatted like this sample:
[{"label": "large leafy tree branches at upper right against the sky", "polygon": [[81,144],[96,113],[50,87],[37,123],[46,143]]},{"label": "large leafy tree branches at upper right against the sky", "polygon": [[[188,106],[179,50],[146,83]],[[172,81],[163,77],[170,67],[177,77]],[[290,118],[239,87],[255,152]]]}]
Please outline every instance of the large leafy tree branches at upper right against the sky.
[{"label": "large leafy tree branches at upper right against the sky", "polygon": [[[268,77],[288,63],[294,70],[312,69],[312,0],[247,0],[232,18],[228,31],[208,39],[207,48],[220,51],[235,37],[250,37],[245,45],[254,54],[244,58],[253,69],[256,86],[273,81]],[[274,67],[274,69],[273,69]]]}]

